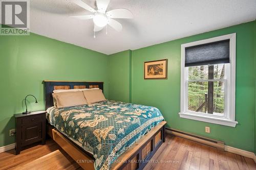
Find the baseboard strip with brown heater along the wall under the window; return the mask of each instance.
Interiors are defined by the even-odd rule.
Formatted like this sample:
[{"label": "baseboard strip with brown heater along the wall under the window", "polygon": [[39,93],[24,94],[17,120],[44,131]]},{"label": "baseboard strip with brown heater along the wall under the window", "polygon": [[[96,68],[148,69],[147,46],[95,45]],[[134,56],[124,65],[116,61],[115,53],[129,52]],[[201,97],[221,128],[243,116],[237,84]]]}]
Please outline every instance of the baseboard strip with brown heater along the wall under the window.
[{"label": "baseboard strip with brown heater along the wall under the window", "polygon": [[203,136],[198,136],[198,135],[194,135],[194,134],[190,134],[190,133],[186,133],[186,132],[182,132],[176,129],[169,129],[166,128],[165,132],[167,134],[170,135],[174,135],[174,136],[178,136],[178,137],[182,137],[188,140],[192,140],[195,141],[197,143],[201,143],[204,145],[208,145],[209,147],[214,147],[223,151],[227,151],[233,154],[238,154],[247,158],[251,158],[254,160],[254,162],[256,163],[256,155],[253,152],[249,152],[249,151],[244,151],[238,148],[233,148],[230,147],[228,145],[225,145],[223,141],[220,140],[215,140],[215,139],[210,139],[207,137],[203,137]]}]

